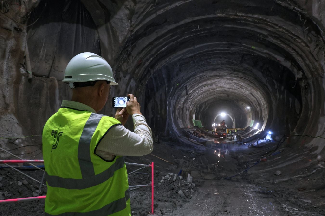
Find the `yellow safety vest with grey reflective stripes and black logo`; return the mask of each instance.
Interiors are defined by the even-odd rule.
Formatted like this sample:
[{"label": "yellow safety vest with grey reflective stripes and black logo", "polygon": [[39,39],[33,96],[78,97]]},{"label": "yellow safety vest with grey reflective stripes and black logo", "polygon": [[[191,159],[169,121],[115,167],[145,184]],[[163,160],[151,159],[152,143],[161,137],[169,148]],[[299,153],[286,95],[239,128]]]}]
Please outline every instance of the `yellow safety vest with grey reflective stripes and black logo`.
[{"label": "yellow safety vest with grey reflective stripes and black logo", "polygon": [[86,110],[60,108],[43,129],[45,215],[131,216],[123,156],[107,161],[96,148],[120,122]]}]

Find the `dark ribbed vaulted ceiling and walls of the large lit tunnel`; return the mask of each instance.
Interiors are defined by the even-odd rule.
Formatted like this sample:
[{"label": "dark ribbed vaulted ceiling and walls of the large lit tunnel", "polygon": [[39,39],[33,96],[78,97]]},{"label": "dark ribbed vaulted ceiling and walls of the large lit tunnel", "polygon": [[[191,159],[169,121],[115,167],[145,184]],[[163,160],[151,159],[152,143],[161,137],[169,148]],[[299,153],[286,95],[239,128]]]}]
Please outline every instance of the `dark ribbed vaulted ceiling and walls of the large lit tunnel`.
[{"label": "dark ribbed vaulted ceiling and walls of the large lit tunnel", "polygon": [[112,94],[145,97],[153,131],[226,110],[243,127],[303,132],[323,114],[324,29],[300,0],[80,2],[121,84]]}]

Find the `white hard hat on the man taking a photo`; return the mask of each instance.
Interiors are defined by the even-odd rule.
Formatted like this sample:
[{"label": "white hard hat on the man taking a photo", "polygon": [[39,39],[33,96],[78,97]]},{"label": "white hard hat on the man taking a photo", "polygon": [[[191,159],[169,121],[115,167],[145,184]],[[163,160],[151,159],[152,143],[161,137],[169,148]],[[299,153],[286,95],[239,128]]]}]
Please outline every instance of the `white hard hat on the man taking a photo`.
[{"label": "white hard hat on the man taking a photo", "polygon": [[119,85],[113,78],[113,71],[107,61],[92,52],[82,52],[68,63],[63,82],[110,81],[110,85]]}]

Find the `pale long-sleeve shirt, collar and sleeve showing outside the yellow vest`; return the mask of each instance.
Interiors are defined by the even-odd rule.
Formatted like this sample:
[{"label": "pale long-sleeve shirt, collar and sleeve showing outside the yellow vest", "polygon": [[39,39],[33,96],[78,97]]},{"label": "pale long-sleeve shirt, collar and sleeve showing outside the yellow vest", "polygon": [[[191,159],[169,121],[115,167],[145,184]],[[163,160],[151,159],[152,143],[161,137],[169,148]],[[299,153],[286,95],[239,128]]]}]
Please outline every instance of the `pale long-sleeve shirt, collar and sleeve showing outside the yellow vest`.
[{"label": "pale long-sleeve shirt, collar and sleeve showing outside the yellow vest", "polygon": [[[63,100],[61,106],[96,113],[93,108],[76,101]],[[105,160],[112,160],[114,155],[141,156],[151,153],[152,133],[146,119],[140,114],[133,114],[132,119],[134,132],[123,125],[112,127],[103,136],[95,153]]]}]

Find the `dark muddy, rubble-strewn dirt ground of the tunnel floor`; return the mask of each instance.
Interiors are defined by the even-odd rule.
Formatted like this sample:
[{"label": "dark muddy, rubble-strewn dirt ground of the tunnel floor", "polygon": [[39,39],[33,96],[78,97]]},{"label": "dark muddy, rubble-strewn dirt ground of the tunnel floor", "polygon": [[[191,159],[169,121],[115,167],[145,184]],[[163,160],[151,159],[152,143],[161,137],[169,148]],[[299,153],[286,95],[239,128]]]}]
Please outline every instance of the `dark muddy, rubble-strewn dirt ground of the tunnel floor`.
[{"label": "dark muddy, rubble-strewn dirt ground of the tunnel floor", "polygon": [[[292,149],[282,147],[265,162],[257,163],[261,155],[276,145],[277,142],[270,142],[248,148],[229,144],[227,149],[221,149],[214,143],[202,147],[165,138],[155,143],[152,154],[125,157],[125,161],[154,162],[155,215],[325,215],[324,162],[308,151],[293,153]],[[137,168],[128,166],[128,171]],[[281,171],[281,175],[275,175],[276,171]],[[23,172],[42,179],[42,171]],[[187,181],[188,173],[192,182]],[[0,176],[0,199],[29,197],[38,192],[39,183],[17,171],[0,169]],[[230,176],[234,177],[227,178]],[[129,185],[149,184],[150,179],[151,169],[142,169],[129,176]],[[45,194],[43,187],[41,195]],[[132,215],[149,214],[150,187],[130,191],[130,197]],[[4,216],[43,213],[44,200],[0,205],[0,215]]]}]

